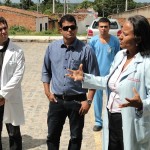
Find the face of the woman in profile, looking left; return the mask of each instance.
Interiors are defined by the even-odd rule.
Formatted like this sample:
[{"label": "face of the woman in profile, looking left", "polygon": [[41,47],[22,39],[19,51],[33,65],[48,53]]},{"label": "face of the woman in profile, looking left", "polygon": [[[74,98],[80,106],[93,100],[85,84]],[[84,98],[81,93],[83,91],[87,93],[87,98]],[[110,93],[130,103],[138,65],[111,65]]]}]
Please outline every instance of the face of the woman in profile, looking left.
[{"label": "face of the woman in profile, looking left", "polygon": [[132,52],[137,49],[133,25],[129,21],[126,21],[124,23],[122,27],[122,33],[119,36],[119,40],[121,48],[125,48]]}]

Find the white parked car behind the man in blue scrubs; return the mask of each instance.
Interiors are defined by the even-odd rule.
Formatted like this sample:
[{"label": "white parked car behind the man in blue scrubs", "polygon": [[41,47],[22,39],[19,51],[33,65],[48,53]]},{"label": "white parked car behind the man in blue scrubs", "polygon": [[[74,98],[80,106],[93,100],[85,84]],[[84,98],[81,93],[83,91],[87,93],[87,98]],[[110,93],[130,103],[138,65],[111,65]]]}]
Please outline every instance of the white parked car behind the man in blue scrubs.
[{"label": "white parked car behind the man in blue scrubs", "polygon": [[[98,29],[98,21],[100,18],[97,18],[92,21],[91,25],[86,25],[87,28],[87,42],[90,41],[92,36],[99,34]],[[117,19],[109,19],[110,20],[110,30],[109,33],[114,36],[119,36],[121,34],[121,26]]]}]

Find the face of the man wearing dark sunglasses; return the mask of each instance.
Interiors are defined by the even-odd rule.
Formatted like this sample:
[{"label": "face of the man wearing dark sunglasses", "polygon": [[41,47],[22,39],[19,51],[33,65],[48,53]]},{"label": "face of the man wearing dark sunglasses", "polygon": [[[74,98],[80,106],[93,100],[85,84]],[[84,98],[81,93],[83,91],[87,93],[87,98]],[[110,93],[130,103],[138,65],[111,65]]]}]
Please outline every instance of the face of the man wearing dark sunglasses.
[{"label": "face of the man wearing dark sunglasses", "polygon": [[74,22],[64,21],[62,23],[62,28],[60,28],[61,34],[65,40],[72,41],[76,38],[77,26]]}]

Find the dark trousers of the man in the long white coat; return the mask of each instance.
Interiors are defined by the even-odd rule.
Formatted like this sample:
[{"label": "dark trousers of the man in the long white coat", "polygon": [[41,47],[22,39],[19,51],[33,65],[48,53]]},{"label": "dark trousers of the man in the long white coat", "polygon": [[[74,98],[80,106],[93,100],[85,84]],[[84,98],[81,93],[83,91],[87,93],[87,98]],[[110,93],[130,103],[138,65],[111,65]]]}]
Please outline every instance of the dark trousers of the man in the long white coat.
[{"label": "dark trousers of the man in the long white coat", "polygon": [[[0,150],[2,150],[2,128],[3,128],[3,114],[4,106],[0,106]],[[6,129],[9,135],[10,150],[22,150],[22,137],[20,133],[20,126],[13,126],[10,123],[6,124]]]}]

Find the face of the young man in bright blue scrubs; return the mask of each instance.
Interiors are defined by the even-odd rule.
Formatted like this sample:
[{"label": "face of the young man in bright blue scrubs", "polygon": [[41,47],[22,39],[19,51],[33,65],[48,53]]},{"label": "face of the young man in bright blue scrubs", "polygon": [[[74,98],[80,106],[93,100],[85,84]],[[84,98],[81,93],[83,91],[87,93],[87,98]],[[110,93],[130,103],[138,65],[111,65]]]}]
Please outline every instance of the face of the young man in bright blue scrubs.
[{"label": "face of the young man in bright blue scrubs", "polygon": [[109,23],[108,22],[99,22],[98,29],[100,32],[100,35],[108,35],[109,34]]}]

